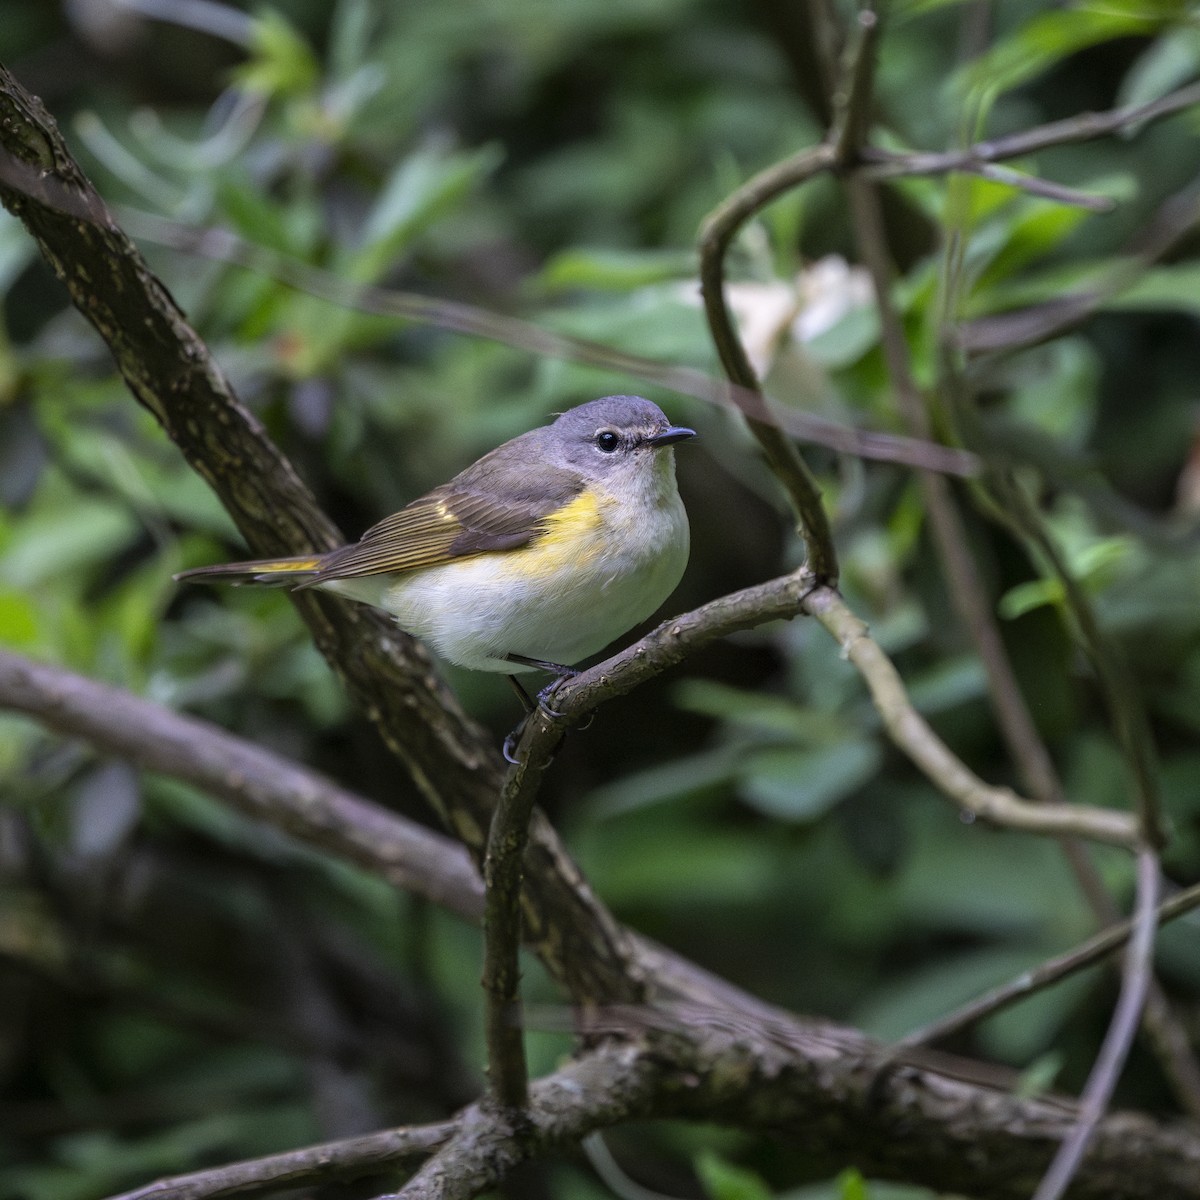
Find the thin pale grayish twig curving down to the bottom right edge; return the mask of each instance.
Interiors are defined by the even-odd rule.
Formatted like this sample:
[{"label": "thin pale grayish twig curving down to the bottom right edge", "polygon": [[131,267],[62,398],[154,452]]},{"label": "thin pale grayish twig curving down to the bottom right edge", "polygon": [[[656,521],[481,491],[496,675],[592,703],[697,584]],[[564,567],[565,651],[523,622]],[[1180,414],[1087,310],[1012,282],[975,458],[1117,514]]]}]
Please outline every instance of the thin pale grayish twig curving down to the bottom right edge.
[{"label": "thin pale grayish twig curving down to the bottom right edge", "polygon": [[1153,970],[1154,929],[1157,925],[1159,868],[1158,856],[1151,848],[1138,854],[1138,892],[1133,918],[1133,936],[1126,950],[1121,971],[1121,995],[1117,997],[1112,1020],[1104,1044],[1096,1057],[1087,1082],[1080,1096],[1080,1112],[1070,1134],[1058,1147],[1050,1169],[1038,1184],[1033,1200],[1060,1200],[1087,1151],[1096,1127],[1112,1098],[1121,1069],[1133,1046],[1141,1020],[1142,1004]]}]

